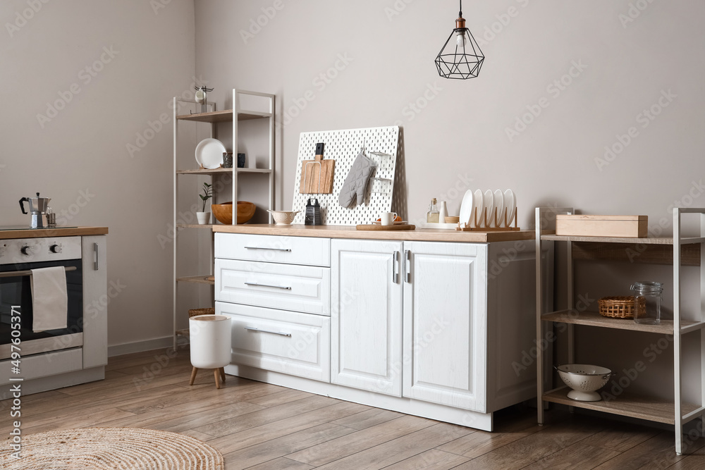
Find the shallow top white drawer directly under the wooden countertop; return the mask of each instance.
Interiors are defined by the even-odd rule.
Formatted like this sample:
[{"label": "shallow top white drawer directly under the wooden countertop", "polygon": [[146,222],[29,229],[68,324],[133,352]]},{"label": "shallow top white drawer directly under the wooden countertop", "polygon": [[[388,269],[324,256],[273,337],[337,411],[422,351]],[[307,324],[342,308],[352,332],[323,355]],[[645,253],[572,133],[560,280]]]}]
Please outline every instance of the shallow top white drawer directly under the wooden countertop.
[{"label": "shallow top white drawer directly under the wooden countertop", "polygon": [[331,266],[331,239],[216,233],[216,258]]}]

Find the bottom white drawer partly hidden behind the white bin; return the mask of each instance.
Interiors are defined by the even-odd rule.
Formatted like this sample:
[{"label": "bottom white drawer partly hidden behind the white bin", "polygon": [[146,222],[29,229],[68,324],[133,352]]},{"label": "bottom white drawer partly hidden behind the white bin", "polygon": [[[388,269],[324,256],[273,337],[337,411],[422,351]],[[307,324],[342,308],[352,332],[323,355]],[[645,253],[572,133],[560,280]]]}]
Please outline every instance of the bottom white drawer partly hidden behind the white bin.
[{"label": "bottom white drawer partly hidden behind the white bin", "polygon": [[330,382],[331,319],[216,302],[231,317],[233,364]]}]

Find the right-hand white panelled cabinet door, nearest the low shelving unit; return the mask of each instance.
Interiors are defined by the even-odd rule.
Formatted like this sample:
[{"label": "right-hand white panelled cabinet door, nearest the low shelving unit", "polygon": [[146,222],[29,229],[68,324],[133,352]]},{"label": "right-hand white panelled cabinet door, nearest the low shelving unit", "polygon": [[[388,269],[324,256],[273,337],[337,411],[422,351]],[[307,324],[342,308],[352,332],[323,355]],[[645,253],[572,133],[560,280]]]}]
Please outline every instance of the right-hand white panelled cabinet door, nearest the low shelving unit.
[{"label": "right-hand white panelled cabinet door, nearest the low shelving unit", "polygon": [[403,395],[484,412],[487,245],[404,249]]}]

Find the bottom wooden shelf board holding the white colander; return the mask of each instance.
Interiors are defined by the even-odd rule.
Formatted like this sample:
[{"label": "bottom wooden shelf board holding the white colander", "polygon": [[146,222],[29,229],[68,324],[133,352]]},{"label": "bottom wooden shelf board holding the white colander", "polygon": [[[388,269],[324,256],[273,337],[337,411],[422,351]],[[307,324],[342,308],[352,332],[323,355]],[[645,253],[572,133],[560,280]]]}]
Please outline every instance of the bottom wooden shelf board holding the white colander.
[{"label": "bottom wooden shelf board holding the white colander", "polygon": [[[570,392],[570,388],[568,387],[557,388],[556,390],[544,393],[543,400],[546,402],[567,404],[571,407],[593,409],[597,412],[656,421],[657,423],[675,424],[675,406],[673,402],[669,400],[653,397],[637,397],[635,395],[628,396],[624,394],[610,401],[579,402],[568,398],[568,392]],[[681,411],[682,414],[685,415],[698,408],[697,405],[683,402]]]}]

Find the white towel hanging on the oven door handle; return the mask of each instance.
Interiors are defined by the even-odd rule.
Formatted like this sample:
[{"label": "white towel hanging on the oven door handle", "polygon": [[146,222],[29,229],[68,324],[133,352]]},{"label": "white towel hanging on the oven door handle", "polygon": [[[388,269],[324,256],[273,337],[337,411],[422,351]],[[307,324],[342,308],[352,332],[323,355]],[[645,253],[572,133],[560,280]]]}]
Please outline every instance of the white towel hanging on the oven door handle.
[{"label": "white towel hanging on the oven door handle", "polygon": [[32,269],[32,311],[35,333],[66,328],[68,295],[66,291],[66,269]]}]

